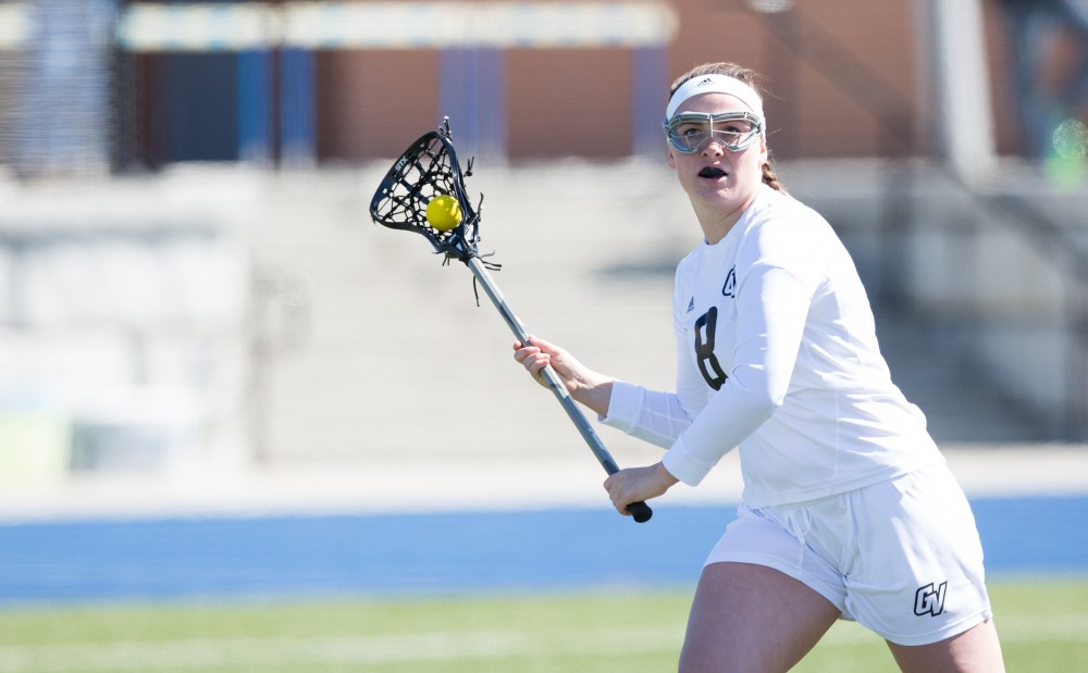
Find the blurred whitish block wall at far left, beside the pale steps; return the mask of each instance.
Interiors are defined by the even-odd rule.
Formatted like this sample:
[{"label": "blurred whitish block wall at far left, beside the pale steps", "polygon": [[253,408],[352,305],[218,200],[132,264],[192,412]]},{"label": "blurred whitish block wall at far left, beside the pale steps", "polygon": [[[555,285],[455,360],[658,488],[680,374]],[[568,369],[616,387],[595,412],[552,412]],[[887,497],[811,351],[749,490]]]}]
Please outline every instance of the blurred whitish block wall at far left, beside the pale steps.
[{"label": "blurred whitish block wall at far left, beside the pale steps", "polygon": [[247,459],[254,197],[226,169],[41,182],[2,199],[5,481]]}]

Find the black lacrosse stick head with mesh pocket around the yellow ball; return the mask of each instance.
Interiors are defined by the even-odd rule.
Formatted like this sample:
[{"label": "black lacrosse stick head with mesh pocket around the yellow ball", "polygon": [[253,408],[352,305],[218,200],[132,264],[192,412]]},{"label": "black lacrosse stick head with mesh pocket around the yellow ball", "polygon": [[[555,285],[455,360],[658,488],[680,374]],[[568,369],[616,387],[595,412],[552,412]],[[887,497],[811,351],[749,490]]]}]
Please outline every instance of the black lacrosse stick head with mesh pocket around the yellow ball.
[{"label": "black lacrosse stick head with mesh pocket around the yellow ball", "polygon": [[[426,221],[426,204],[441,196],[457,199],[461,209],[461,221],[449,230],[440,230]],[[465,174],[449,137],[448,120],[400,154],[370,201],[370,216],[378,224],[420,234],[435,252],[446,257],[467,261],[478,256],[480,215],[465,192]]]}]

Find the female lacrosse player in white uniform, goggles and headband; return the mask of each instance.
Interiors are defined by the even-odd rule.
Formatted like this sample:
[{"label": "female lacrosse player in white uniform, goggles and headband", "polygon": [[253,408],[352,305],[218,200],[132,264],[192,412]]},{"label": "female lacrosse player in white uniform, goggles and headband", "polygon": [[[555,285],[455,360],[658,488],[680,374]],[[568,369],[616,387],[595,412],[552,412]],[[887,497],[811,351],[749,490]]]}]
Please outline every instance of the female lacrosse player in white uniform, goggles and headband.
[{"label": "female lacrosse player in white uniform, goggles and headband", "polygon": [[707,64],[670,91],[668,165],[703,234],[677,267],[676,392],[535,337],[515,359],[667,449],[605,482],[620,512],[740,447],[743,503],[706,560],[682,672],[786,671],[837,619],[882,636],[904,671],[1001,671],[970,509],[891,381],[846,250],[778,184],[753,79]]}]

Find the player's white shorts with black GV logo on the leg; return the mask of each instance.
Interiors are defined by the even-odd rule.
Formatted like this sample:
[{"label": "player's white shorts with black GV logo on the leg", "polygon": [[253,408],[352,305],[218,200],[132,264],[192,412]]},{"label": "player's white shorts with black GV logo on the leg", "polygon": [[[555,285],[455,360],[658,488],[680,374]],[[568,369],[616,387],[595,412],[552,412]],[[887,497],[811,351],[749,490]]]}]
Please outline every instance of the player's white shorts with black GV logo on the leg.
[{"label": "player's white shorts with black GV logo on the leg", "polygon": [[899,645],[992,614],[975,518],[944,464],[801,504],[742,504],[706,560],[720,562],[786,573]]}]

